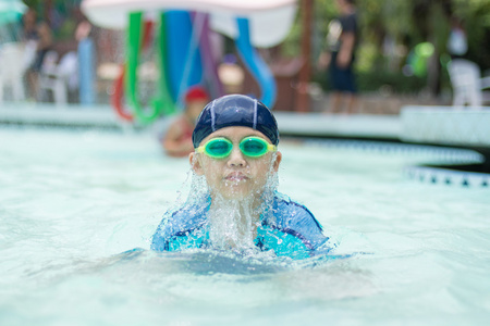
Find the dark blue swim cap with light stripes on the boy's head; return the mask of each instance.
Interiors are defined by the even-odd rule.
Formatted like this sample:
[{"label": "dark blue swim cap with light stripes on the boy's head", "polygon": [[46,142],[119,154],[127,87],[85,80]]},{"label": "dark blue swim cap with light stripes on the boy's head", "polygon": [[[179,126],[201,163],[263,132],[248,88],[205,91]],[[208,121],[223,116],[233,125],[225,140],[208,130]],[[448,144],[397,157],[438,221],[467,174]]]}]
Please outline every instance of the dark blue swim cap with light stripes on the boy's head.
[{"label": "dark blue swim cap with light stripes on the boy's head", "polygon": [[216,130],[232,126],[250,127],[279,143],[278,123],[266,105],[247,96],[229,95],[203,109],[193,133],[194,148]]}]

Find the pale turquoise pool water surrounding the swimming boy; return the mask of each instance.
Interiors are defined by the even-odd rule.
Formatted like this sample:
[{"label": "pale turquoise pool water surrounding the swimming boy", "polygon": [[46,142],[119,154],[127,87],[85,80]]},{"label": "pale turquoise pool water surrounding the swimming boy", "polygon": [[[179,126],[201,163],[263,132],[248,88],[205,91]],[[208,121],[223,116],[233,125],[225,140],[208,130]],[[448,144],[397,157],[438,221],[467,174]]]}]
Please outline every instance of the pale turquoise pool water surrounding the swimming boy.
[{"label": "pale turquoise pool water surrounding the swimming boy", "polygon": [[355,253],[295,263],[149,251],[191,178],[150,134],[2,127],[0,325],[485,325],[490,190],[407,179],[446,156],[406,148],[280,145],[279,190]]}]

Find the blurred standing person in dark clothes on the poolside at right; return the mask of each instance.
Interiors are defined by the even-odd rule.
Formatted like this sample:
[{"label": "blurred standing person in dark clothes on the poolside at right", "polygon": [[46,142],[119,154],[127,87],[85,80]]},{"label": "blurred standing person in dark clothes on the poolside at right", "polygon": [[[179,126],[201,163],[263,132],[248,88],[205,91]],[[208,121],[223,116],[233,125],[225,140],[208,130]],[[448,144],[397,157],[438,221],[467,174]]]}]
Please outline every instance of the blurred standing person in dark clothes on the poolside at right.
[{"label": "blurred standing person in dark clothes on the poolside at right", "polygon": [[331,112],[354,113],[357,105],[357,88],[353,65],[358,42],[357,16],[354,0],[336,0],[341,13],[329,24],[326,51],[318,60],[320,68],[329,67],[330,85],[333,89],[330,102]]}]

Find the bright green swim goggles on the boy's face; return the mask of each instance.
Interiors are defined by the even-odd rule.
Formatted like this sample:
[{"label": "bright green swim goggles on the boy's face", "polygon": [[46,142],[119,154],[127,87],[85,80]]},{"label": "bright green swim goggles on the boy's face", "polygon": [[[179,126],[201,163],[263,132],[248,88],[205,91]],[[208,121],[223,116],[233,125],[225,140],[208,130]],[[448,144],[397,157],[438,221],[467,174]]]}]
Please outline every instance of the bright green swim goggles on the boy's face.
[{"label": "bright green swim goggles on the boy's face", "polygon": [[[267,142],[260,137],[245,137],[240,142],[240,150],[249,158],[260,158],[270,151],[277,151],[278,147]],[[217,137],[208,140],[205,145],[196,148],[196,153],[205,153],[212,159],[224,159],[233,150],[233,142],[223,137]]]}]

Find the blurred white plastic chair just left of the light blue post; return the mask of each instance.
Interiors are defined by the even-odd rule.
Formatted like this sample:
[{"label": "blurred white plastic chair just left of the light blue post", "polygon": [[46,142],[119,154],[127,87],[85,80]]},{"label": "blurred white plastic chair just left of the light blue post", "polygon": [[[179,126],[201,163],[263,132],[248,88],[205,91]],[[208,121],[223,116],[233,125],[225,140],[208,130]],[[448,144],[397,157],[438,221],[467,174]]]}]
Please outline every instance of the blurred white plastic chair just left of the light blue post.
[{"label": "blurred white plastic chair just left of the light blue post", "polygon": [[46,53],[39,72],[39,91],[41,98],[51,91],[54,103],[66,104],[69,90],[78,87],[78,61],[75,52],[64,54],[59,63],[58,58],[54,51]]}]

